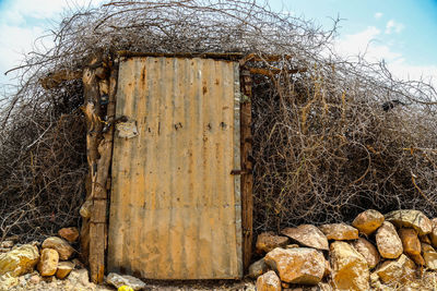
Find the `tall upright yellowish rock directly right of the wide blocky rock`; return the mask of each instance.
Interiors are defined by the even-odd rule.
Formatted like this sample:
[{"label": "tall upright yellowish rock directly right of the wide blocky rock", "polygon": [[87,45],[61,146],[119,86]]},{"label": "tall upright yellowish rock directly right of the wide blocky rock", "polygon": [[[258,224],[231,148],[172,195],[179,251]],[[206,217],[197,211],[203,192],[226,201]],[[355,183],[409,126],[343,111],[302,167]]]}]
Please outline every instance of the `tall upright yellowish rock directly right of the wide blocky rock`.
[{"label": "tall upright yellowish rock directly right of the wide blocky rock", "polygon": [[369,290],[367,260],[352,245],[333,242],[330,256],[335,290]]}]

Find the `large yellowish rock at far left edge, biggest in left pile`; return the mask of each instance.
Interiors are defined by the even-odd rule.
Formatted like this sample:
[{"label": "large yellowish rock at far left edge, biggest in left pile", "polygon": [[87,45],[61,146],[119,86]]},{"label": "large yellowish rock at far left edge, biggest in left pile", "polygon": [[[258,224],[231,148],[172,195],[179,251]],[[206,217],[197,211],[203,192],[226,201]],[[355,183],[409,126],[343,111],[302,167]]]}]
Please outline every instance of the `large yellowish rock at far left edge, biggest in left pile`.
[{"label": "large yellowish rock at far left edge, biggest in left pile", "polygon": [[31,244],[15,247],[8,253],[0,254],[0,275],[10,272],[17,277],[31,272],[38,263],[38,248]]}]

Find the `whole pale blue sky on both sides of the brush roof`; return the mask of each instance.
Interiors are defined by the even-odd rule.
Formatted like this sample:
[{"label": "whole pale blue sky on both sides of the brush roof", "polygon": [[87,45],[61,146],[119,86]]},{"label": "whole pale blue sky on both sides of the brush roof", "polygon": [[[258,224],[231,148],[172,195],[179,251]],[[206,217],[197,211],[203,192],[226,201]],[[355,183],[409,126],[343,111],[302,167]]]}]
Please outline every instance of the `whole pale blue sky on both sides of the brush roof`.
[{"label": "whole pale blue sky on both sides of the brush roof", "polygon": [[[62,11],[96,5],[104,0],[0,0],[0,71],[20,64],[36,41],[61,19]],[[367,52],[385,60],[402,78],[433,76],[437,81],[437,0],[270,0],[272,9],[311,19],[329,28],[340,15],[334,47],[345,58]],[[13,82],[0,76],[0,84]]]}]

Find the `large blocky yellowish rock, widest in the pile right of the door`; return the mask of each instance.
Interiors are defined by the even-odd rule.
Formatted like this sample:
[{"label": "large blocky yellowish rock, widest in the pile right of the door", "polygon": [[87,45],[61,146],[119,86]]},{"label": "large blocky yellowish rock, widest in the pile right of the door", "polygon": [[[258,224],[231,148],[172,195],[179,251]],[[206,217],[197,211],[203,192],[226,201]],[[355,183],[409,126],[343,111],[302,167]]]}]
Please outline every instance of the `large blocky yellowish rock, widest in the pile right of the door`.
[{"label": "large blocky yellowish rock, widest in the pile right of the door", "polygon": [[269,252],[265,263],[287,283],[317,284],[323,277],[323,255],[309,247],[281,248]]}]

